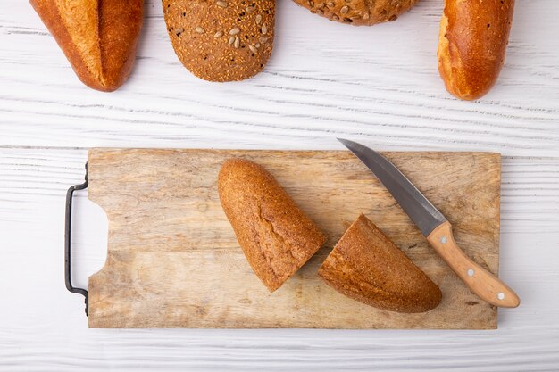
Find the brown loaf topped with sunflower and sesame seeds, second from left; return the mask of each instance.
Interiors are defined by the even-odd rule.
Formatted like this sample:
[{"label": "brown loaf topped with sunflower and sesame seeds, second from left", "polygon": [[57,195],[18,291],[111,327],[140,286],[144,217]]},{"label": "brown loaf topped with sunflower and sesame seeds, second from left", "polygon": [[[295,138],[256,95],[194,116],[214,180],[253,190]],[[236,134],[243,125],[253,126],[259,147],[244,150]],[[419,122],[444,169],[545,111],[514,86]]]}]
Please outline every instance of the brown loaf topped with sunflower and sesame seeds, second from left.
[{"label": "brown loaf topped with sunflower and sesame seeds, second from left", "polygon": [[163,0],[171,44],[200,79],[248,79],[268,61],[275,1]]}]

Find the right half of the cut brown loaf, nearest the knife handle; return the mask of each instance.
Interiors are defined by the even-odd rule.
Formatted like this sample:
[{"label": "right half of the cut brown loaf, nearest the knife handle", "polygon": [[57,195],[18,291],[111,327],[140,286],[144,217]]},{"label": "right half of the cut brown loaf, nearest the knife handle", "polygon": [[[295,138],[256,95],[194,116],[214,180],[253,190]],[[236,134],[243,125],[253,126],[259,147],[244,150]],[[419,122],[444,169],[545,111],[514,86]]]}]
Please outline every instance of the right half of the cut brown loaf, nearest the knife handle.
[{"label": "right half of the cut brown loaf, nearest the knife handle", "polygon": [[428,311],[442,298],[438,286],[363,214],[324,260],[319,275],[338,292],[384,310]]}]

